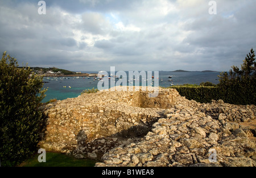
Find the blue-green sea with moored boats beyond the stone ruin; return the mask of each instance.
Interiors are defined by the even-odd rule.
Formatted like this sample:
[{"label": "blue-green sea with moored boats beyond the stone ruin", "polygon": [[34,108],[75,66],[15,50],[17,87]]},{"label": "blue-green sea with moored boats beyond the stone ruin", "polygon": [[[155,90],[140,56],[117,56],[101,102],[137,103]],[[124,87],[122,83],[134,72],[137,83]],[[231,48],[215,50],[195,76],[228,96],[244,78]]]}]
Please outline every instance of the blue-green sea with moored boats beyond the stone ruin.
[{"label": "blue-green sea with moored boats beyond the stone ruin", "polygon": [[[98,71],[81,71],[82,73],[98,73]],[[110,72],[108,72],[111,75]],[[171,85],[183,85],[183,84],[196,84],[199,85],[201,82],[212,82],[218,84],[218,75],[220,72],[170,72],[170,71],[159,71],[158,77],[154,76],[152,71],[152,77],[146,75],[139,76],[139,78],[129,78],[129,72],[126,71],[127,80],[123,80],[124,77],[109,76],[110,80],[113,80],[118,86],[121,84],[125,85],[147,85],[155,86],[156,80],[158,85],[162,87],[169,87]],[[115,76],[115,77],[114,77]],[[121,79],[122,77],[122,79]],[[171,78],[170,78],[171,77]],[[52,99],[65,100],[67,98],[75,98],[80,96],[81,92],[86,89],[97,89],[99,78],[94,77],[44,77],[44,86],[47,88],[46,97],[42,102],[47,102]],[[121,82],[121,81],[122,82]],[[139,82],[136,82],[139,80]],[[172,81],[170,81],[172,80]],[[113,82],[112,81],[112,82]],[[100,85],[104,86],[104,84]],[[109,82],[110,85],[110,82]]]}]

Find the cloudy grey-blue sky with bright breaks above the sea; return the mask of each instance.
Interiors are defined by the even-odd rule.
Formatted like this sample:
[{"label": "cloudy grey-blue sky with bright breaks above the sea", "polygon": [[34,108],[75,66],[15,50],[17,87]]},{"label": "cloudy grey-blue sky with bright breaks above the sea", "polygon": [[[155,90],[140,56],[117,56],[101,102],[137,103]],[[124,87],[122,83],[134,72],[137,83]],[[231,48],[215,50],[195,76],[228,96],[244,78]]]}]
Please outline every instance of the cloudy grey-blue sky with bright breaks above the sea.
[{"label": "cloudy grey-blue sky with bright breaks above the sea", "polygon": [[0,52],[19,65],[229,71],[256,49],[255,0],[46,0],[46,14],[38,2],[0,0]]}]

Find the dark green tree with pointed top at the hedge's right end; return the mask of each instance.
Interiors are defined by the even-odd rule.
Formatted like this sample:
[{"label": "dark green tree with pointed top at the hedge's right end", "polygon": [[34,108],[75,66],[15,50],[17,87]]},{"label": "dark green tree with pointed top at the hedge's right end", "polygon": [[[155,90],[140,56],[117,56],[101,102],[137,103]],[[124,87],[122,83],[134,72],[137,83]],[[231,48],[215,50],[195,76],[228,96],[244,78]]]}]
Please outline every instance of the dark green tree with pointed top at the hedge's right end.
[{"label": "dark green tree with pointed top at the hedge's right end", "polygon": [[256,102],[256,62],[253,48],[246,55],[241,69],[232,66],[229,74],[220,73],[218,84],[225,102],[232,104],[254,104]]}]

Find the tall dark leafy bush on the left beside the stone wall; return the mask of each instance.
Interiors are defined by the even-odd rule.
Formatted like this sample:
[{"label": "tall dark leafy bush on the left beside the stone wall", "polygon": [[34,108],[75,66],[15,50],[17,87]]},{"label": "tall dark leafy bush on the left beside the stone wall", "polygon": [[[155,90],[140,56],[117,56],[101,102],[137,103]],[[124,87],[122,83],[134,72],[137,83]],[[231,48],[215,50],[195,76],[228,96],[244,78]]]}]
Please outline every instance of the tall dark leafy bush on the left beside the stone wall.
[{"label": "tall dark leafy bush on the left beside the stone wall", "polygon": [[39,141],[46,89],[43,77],[30,67],[18,68],[14,57],[3,52],[0,61],[0,159],[1,166],[13,166],[35,152]]}]

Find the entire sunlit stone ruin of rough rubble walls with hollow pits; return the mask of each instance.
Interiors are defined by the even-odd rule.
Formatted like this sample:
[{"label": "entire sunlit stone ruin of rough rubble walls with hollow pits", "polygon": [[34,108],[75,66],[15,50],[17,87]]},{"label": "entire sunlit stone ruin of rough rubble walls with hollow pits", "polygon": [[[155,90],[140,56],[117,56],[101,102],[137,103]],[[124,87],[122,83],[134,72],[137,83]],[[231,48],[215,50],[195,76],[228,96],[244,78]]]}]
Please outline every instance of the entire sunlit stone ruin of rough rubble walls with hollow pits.
[{"label": "entire sunlit stone ruin of rough rubble walls with hollow pits", "polygon": [[40,146],[96,166],[255,166],[256,107],[200,104],[160,89],[83,94],[44,107]]}]

